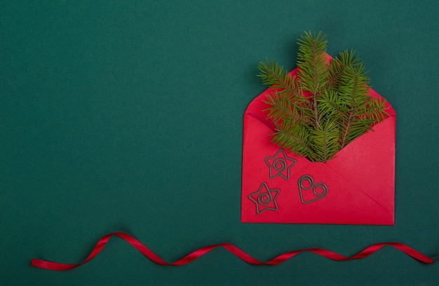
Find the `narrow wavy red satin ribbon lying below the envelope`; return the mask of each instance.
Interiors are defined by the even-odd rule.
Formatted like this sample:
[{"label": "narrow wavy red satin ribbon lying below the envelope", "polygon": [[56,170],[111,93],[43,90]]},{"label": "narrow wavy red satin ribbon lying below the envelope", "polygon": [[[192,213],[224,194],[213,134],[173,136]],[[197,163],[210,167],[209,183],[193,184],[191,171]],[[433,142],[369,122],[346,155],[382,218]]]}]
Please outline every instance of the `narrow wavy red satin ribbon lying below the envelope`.
[{"label": "narrow wavy red satin ribbon lying below the envelope", "polygon": [[239,249],[238,247],[231,245],[229,243],[221,243],[217,245],[209,245],[202,247],[198,250],[195,250],[194,252],[191,252],[186,257],[183,257],[182,259],[175,261],[173,263],[168,263],[158,257],[157,254],[152,252],[148,247],[144,246],[142,243],[140,243],[139,240],[133,238],[133,236],[128,236],[126,233],[112,233],[107,236],[104,236],[99,240],[93,251],[90,253],[90,255],[81,262],[80,264],[64,264],[64,263],[58,263],[58,262],[51,262],[51,261],[45,261],[40,259],[32,259],[32,266],[48,269],[48,270],[55,270],[55,271],[63,271],[63,270],[70,270],[76,267],[79,267],[83,264],[86,264],[88,261],[93,259],[101,250],[105,247],[108,240],[112,236],[119,236],[119,238],[122,238],[123,240],[126,240],[130,245],[133,245],[136,250],[142,252],[142,254],[150,259],[151,261],[154,261],[156,264],[161,265],[168,265],[168,266],[180,266],[184,264],[189,264],[191,261],[194,261],[195,259],[198,259],[202,257],[204,254],[215,250],[217,247],[224,247],[226,250],[229,250],[232,254],[235,254],[236,257],[239,257],[243,261],[247,262],[248,264],[254,264],[254,265],[278,265],[281,264],[288,259],[295,257],[297,254],[300,254],[302,252],[312,252],[318,255],[321,255],[323,257],[326,257],[327,259],[332,259],[336,261],[346,261],[346,260],[353,260],[353,259],[361,259],[368,257],[370,254],[377,252],[382,247],[385,247],[387,245],[390,245],[392,247],[395,247],[397,250],[400,250],[401,252],[404,252],[405,254],[409,255],[413,259],[417,259],[418,261],[421,261],[425,264],[431,264],[435,260],[431,259],[430,257],[427,257],[424,254],[421,254],[417,250],[414,250],[412,247],[407,246],[403,243],[377,243],[374,245],[371,245],[370,247],[367,247],[365,250],[359,252],[358,254],[355,254],[351,257],[345,257],[341,254],[332,252],[330,250],[324,250],[322,248],[309,248],[306,250],[296,250],[291,252],[285,252],[278,257],[271,259],[267,262],[259,261],[258,259],[255,259],[254,257],[251,257],[249,254],[245,253],[243,250]]}]

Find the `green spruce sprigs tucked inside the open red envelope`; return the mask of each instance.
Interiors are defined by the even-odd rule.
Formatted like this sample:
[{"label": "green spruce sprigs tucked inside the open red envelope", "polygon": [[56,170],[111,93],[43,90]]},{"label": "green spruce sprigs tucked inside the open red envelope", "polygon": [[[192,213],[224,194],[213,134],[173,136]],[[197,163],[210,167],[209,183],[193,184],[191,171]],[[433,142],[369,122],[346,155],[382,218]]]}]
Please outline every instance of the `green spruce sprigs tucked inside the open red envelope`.
[{"label": "green spruce sprigs tucked inside the open red envelope", "polygon": [[353,50],[328,62],[322,32],[305,32],[298,44],[297,76],[273,60],[258,66],[258,76],[273,89],[266,99],[267,117],[276,125],[273,142],[310,161],[327,162],[389,117],[386,101],[370,97],[365,65]]}]

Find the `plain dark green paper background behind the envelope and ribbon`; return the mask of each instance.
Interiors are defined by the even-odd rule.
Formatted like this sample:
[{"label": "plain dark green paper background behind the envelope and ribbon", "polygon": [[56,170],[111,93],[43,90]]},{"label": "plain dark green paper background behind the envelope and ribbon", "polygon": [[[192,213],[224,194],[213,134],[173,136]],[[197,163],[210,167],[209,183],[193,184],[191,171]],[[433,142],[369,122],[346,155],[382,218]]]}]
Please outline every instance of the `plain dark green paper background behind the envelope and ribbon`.
[{"label": "plain dark green paper background behind the envelope and ribbon", "polygon": [[[1,285],[438,285],[439,263],[391,247],[280,266],[217,249],[166,267],[112,238],[73,271],[30,266],[79,263],[114,231],[167,261],[215,243],[264,261],[388,241],[439,254],[438,1],[2,2]],[[294,68],[305,30],[327,34],[332,55],[355,49],[396,109],[395,226],[240,222],[257,64]]]}]

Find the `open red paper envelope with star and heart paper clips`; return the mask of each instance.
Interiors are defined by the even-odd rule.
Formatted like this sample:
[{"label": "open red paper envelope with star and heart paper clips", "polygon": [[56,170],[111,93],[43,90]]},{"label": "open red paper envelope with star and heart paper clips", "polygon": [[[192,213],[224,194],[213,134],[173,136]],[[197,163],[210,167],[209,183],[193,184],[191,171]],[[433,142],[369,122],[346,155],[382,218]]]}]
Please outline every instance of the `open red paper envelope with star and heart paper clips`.
[{"label": "open red paper envelope with star and heart paper clips", "polygon": [[[292,75],[297,73],[293,70]],[[241,222],[393,225],[396,114],[327,163],[311,163],[271,142],[274,124],[255,98],[244,114]],[[372,97],[381,97],[370,89]]]}]

